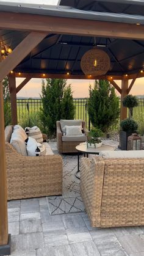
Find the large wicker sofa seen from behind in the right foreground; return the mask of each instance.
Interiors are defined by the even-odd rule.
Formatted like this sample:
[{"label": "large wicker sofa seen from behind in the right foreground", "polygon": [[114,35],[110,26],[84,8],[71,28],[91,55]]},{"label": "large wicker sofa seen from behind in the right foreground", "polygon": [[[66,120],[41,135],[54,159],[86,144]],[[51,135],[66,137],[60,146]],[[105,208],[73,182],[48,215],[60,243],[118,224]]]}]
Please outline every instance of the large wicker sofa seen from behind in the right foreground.
[{"label": "large wicker sofa seen from behind in the right foreground", "polygon": [[[92,227],[144,225],[144,151],[81,161],[81,195]],[[139,158],[137,158],[137,156]]]}]

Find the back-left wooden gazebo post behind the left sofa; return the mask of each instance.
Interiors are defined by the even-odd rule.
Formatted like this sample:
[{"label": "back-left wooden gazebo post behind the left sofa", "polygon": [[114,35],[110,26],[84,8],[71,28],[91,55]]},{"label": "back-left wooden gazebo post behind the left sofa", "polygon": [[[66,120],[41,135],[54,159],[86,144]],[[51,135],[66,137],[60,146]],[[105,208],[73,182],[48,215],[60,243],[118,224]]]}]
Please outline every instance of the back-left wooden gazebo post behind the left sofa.
[{"label": "back-left wooden gazebo post behind the left sofa", "polygon": [[17,125],[18,118],[17,118],[17,105],[16,105],[16,79],[15,79],[15,76],[9,75],[9,86],[10,86],[12,125]]}]

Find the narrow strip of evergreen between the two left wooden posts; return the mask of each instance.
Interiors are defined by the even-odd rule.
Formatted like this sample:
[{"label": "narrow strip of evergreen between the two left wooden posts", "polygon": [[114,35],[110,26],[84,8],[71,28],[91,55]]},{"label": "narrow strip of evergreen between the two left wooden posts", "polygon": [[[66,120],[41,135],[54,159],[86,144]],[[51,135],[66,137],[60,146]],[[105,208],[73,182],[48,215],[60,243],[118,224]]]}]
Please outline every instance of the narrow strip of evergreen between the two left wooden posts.
[{"label": "narrow strip of evergreen between the two left wooden posts", "polygon": [[2,80],[2,86],[4,97],[4,124],[7,126],[11,123],[9,80],[7,76],[4,78],[4,80]]}]

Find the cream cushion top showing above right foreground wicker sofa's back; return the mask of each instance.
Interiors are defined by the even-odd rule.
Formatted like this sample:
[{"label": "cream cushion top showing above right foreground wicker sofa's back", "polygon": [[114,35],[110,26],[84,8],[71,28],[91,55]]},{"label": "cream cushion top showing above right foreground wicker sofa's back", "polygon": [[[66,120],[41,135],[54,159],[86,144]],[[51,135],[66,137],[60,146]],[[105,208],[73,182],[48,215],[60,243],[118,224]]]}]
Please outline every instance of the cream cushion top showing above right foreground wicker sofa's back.
[{"label": "cream cushion top showing above right foreground wicker sofa's back", "polygon": [[101,151],[104,158],[144,158],[144,150]]}]

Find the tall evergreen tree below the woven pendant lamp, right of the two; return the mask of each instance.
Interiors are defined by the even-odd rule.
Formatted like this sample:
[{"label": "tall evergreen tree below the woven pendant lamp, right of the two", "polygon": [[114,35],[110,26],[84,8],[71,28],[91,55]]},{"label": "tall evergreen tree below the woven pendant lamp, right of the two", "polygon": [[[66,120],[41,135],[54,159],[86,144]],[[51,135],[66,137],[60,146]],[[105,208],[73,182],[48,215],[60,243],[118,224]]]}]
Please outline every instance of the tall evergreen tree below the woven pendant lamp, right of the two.
[{"label": "tall evergreen tree below the woven pendant lamp, right of the two", "polygon": [[115,89],[107,80],[95,80],[94,88],[90,86],[88,115],[92,125],[106,133],[119,117],[119,100]]}]

